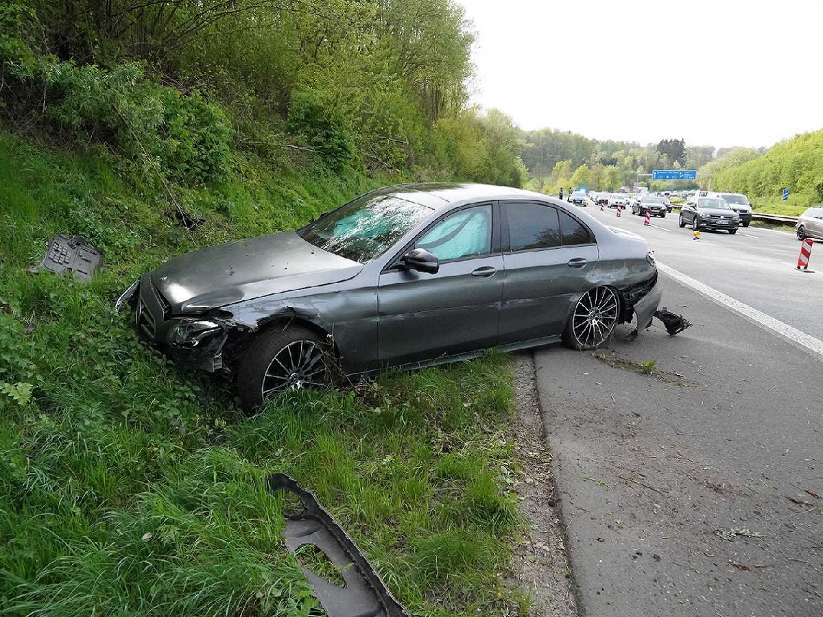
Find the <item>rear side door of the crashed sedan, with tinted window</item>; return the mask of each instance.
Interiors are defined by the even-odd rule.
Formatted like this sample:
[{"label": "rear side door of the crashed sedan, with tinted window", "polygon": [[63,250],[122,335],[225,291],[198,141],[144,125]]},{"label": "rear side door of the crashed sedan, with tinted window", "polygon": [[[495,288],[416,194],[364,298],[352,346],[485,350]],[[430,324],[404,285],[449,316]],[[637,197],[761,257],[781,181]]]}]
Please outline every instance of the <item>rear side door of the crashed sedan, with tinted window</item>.
[{"label": "rear side door of the crashed sedan, with tinted window", "polygon": [[559,335],[597,263],[594,234],[545,202],[505,202],[500,345]]}]

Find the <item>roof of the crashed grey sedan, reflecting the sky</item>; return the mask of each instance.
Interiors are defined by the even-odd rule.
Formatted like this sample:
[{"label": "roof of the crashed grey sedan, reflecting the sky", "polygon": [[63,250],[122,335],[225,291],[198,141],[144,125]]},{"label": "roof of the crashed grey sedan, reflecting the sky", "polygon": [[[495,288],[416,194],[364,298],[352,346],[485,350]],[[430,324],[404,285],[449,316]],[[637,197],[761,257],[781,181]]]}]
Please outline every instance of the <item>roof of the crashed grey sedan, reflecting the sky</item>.
[{"label": "roof of the crashed grey sedan, reflecting the sky", "polygon": [[440,210],[456,202],[474,199],[548,199],[547,195],[522,188],[499,187],[493,184],[417,182],[379,188],[374,195],[393,195],[407,202]]}]

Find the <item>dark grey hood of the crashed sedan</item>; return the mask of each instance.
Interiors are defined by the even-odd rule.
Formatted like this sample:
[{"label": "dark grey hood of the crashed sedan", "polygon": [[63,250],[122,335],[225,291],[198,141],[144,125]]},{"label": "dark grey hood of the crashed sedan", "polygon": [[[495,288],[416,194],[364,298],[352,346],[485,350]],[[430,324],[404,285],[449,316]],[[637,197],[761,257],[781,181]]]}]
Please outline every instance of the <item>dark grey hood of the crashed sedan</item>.
[{"label": "dark grey hood of the crashed sedan", "polygon": [[346,281],[362,269],[286,231],[184,253],[153,271],[151,282],[179,314]]}]

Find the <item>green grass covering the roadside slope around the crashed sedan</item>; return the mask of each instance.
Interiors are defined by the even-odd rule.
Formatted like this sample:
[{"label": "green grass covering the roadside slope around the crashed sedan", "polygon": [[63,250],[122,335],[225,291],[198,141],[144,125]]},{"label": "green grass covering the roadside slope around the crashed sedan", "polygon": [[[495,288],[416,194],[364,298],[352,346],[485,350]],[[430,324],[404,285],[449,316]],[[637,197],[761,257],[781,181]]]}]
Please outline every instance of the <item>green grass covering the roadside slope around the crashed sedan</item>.
[{"label": "green grass covering the roadside slope around the crashed sedan", "polygon": [[[323,615],[281,538],[295,476],[415,615],[517,615],[501,583],[520,529],[504,356],[280,397],[233,392],[140,345],[119,292],[176,253],[299,225],[386,179],[270,175],[174,188],[101,154],[0,134],[0,606],[3,615]],[[26,269],[55,233],[106,251],[91,284]]]}]

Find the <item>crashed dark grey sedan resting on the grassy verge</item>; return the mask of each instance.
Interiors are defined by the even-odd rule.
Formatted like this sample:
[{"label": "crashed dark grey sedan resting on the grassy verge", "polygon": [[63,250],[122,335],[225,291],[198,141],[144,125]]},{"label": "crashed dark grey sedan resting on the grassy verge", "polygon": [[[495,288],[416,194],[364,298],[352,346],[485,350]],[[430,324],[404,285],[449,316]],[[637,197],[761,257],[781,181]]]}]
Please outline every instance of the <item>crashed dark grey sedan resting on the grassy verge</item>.
[{"label": "crashed dark grey sedan resting on the grassy verge", "polygon": [[601,346],[649,327],[648,244],[541,193],[416,183],[296,231],[185,253],[119,299],[174,360],[235,381],[244,407],[337,375],[463,360],[493,347]]}]

